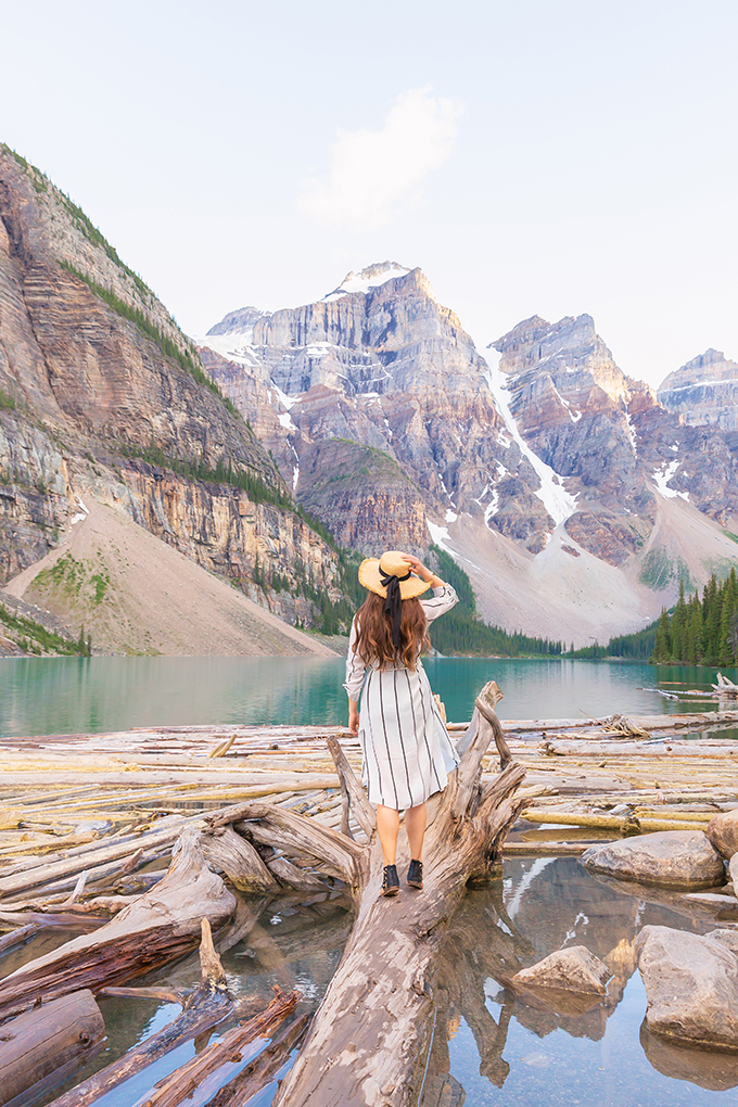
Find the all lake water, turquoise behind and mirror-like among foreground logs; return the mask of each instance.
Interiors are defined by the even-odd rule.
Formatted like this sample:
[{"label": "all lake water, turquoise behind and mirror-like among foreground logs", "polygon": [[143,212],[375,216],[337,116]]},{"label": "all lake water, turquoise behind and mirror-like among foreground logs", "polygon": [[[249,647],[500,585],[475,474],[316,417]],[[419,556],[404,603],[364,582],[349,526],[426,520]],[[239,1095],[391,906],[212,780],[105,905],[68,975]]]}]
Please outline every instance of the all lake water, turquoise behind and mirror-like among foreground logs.
[{"label": "all lake water, turquoise behind and mirror-like among foreground logs", "polygon": [[[502,720],[711,710],[697,694],[715,670],[585,661],[432,659],[430,682],[449,718],[465,721],[482,684],[505,692]],[[135,726],[228,723],[337,723],[346,718],[343,662],[293,659],[49,659],[0,662],[0,734],[43,735]],[[735,672],[727,675],[735,677]],[[627,884],[590,877],[572,858],[514,858],[503,879],[469,891],[453,921],[437,982],[437,1017],[419,1107],[728,1107],[738,1103],[738,1057],[674,1048],[644,1028],[645,993],[633,940],[646,923],[705,932],[709,923],[654,890],[643,899]],[[253,904],[260,935],[246,935],[224,958],[236,995],[297,985],[320,1001],[341,956],[350,915],[335,897]],[[0,959],[7,973],[55,945],[42,932],[23,951]],[[51,944],[50,944],[51,943]],[[584,944],[614,977],[609,996],[580,1013],[537,1010],[505,981],[565,945]],[[276,968],[277,965],[277,968]],[[157,976],[179,986],[198,977],[196,956]],[[153,982],[153,981],[152,981]],[[103,1067],[178,1013],[154,1001],[101,1001],[107,1039],[87,1072]],[[222,1027],[224,1030],[227,1028]],[[217,1038],[221,1027],[212,1035]],[[131,1107],[153,1083],[193,1056],[194,1043],[167,1055],[97,1101]],[[256,1046],[254,1046],[256,1049]],[[249,1059],[245,1057],[245,1063]],[[72,1083],[77,1083],[77,1074]],[[232,1075],[232,1074],[231,1074]],[[279,1074],[283,1075],[283,1074]],[[50,1103],[56,1089],[44,1100]],[[210,1089],[210,1094],[212,1094]],[[268,1107],[276,1085],[249,1107]],[[195,1097],[191,1107],[205,1099]]]}]

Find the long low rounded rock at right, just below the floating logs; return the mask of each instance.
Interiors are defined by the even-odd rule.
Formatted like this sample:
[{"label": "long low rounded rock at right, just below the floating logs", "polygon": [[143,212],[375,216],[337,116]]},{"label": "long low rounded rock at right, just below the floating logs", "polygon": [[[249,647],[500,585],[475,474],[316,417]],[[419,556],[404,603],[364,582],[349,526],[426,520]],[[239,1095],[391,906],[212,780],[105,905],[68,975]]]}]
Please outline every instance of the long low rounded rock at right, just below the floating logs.
[{"label": "long low rounded rock at right, just below the floating logs", "polygon": [[723,858],[701,830],[664,830],[591,846],[581,861],[590,872],[662,888],[713,888],[725,881]]}]

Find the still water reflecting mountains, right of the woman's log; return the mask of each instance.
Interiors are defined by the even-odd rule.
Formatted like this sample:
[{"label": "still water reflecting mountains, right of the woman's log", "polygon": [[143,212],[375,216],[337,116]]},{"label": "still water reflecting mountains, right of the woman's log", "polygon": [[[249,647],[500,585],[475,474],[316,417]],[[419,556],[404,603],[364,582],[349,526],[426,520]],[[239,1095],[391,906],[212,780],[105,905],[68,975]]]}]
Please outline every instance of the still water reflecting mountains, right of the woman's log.
[{"label": "still water reflecting mountains, right of the woman's log", "polygon": [[[671,1046],[642,1026],[637,932],[713,929],[678,896],[649,891],[644,899],[634,886],[600,881],[573,858],[514,859],[503,882],[469,891],[440,960],[420,1107],[725,1103],[720,1093],[738,1086],[738,1058]],[[606,996],[511,990],[519,969],[578,944],[613,973]]]}]

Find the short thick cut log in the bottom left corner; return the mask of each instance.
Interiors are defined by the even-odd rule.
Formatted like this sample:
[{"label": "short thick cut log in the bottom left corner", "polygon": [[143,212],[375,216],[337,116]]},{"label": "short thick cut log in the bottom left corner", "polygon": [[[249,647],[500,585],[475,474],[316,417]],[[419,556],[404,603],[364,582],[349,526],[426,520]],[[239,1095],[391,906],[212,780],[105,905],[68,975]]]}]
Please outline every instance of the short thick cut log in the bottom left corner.
[{"label": "short thick cut log in the bottom left corner", "polygon": [[84,1064],[105,1036],[92,992],[71,992],[6,1023],[0,1034],[0,1096],[8,1103],[40,1080]]}]

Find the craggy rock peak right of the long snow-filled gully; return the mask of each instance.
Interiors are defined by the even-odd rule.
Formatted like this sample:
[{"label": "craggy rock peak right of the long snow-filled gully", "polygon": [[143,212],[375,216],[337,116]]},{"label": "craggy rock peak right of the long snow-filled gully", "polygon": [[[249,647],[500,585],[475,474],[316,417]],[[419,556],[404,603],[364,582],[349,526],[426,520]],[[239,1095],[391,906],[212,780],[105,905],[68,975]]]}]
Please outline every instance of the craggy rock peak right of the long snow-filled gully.
[{"label": "craggy rock peak right of the long snow-filled gully", "polygon": [[626,377],[590,315],[553,325],[534,317],[495,349],[520,433],[575,497],[567,532],[596,557],[627,561],[659,497],[682,496],[721,525],[738,511],[737,458],[725,436],[684,426]]}]

